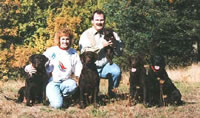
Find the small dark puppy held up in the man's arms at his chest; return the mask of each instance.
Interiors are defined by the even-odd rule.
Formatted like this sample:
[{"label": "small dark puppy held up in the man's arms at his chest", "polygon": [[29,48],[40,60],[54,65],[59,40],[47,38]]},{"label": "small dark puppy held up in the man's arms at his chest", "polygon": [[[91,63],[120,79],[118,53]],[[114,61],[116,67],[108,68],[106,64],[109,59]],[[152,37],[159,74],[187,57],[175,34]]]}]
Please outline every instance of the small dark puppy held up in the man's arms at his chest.
[{"label": "small dark puppy held up in the man's arms at his chest", "polygon": [[115,39],[115,36],[113,34],[113,30],[110,29],[110,28],[107,28],[107,29],[104,29],[104,39],[106,41],[111,41],[113,43],[112,46],[106,46],[104,49],[105,49],[105,52],[106,52],[106,58],[108,59],[108,62],[110,64],[113,64],[113,57],[114,57],[114,49],[116,48],[116,39]]}]

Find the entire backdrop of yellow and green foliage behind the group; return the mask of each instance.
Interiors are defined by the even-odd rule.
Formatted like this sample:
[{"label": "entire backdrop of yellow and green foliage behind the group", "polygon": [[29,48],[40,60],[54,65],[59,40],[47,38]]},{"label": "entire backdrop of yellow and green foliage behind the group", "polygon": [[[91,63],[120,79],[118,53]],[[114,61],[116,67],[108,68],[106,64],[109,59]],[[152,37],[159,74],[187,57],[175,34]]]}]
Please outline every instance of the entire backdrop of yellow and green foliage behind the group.
[{"label": "entire backdrop of yellow and green foliage behind the group", "polygon": [[31,54],[54,45],[59,28],[73,31],[73,47],[78,50],[79,36],[91,26],[96,9],[105,11],[106,27],[125,44],[124,55],[115,58],[122,69],[127,69],[127,57],[137,53],[147,63],[152,53],[161,53],[171,67],[189,65],[200,54],[194,48],[200,44],[199,7],[198,0],[0,1],[0,78],[21,73],[19,68]]}]

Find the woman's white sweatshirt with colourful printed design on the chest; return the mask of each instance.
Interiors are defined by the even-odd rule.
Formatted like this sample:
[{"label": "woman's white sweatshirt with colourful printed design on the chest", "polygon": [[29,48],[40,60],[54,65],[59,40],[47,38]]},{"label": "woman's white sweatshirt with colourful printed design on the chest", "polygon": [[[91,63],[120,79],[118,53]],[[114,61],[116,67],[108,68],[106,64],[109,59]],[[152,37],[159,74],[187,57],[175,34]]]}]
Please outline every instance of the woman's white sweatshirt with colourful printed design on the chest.
[{"label": "woman's white sweatshirt with colourful printed design on the chest", "polygon": [[58,46],[53,46],[43,54],[50,61],[46,67],[47,73],[52,74],[50,80],[55,82],[63,81],[71,78],[73,73],[75,76],[80,77],[82,63],[78,53],[73,48],[62,50]]}]

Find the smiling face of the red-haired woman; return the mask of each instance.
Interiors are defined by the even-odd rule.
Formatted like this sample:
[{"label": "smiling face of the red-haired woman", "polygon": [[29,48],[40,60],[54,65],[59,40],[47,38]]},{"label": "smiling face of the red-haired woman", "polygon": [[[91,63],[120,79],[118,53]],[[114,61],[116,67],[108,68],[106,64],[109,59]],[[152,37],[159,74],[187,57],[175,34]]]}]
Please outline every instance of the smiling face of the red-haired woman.
[{"label": "smiling face of the red-haired woman", "polygon": [[71,39],[68,36],[60,37],[60,48],[69,49],[71,45]]}]

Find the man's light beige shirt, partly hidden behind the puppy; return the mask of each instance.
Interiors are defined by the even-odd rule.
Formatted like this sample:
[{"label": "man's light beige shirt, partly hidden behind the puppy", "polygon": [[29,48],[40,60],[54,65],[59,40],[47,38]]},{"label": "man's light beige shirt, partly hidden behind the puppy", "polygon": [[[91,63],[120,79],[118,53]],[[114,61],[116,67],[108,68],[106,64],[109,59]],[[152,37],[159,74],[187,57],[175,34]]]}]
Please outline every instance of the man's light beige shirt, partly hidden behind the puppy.
[{"label": "man's light beige shirt, partly hidden behind the puppy", "polygon": [[[118,43],[122,43],[117,33],[113,32],[115,39],[118,41]],[[97,67],[103,67],[105,64],[108,63],[108,60],[106,58],[105,51],[103,50],[103,42],[104,42],[104,35],[97,33],[96,29],[94,27],[91,27],[84,31],[80,37],[79,41],[79,47],[81,50],[81,53],[85,51],[93,51],[98,53],[98,59],[95,62]],[[122,47],[119,45],[117,47],[118,51],[117,53],[120,53],[119,51],[122,51]]]}]

